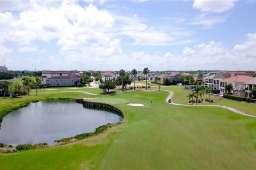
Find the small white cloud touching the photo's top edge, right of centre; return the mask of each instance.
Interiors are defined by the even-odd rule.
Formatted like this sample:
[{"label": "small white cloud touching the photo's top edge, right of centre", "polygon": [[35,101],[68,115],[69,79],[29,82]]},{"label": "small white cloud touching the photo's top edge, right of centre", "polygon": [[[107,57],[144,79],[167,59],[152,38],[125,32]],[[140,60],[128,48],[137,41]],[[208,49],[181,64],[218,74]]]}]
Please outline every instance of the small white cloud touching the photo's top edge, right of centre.
[{"label": "small white cloud touching the photo's top edge, right of centre", "polygon": [[193,7],[201,11],[224,12],[234,7],[235,0],[194,0]]}]

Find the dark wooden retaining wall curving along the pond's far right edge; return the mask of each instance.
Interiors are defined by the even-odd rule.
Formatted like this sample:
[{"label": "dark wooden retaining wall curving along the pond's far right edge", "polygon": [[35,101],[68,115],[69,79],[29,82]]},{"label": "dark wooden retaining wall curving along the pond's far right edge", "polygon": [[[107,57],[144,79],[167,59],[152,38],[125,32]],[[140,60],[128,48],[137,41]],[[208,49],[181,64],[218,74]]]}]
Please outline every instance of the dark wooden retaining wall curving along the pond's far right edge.
[{"label": "dark wooden retaining wall curving along the pond's far right edge", "polygon": [[117,115],[122,116],[124,118],[124,114],[122,111],[120,111],[118,108],[111,106],[109,104],[85,101],[84,99],[76,99],[76,102],[81,103],[83,104],[83,106],[86,106],[86,107],[109,109],[110,111],[114,111]]}]

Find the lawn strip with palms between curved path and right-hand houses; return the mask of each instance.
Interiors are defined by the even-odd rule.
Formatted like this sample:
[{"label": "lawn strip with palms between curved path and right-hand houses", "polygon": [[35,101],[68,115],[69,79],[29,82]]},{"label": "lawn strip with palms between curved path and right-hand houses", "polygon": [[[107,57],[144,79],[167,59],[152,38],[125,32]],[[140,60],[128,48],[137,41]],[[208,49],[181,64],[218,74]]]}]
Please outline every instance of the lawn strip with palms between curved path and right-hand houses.
[{"label": "lawn strip with palms between curved path and right-hand houses", "polygon": [[[169,86],[162,87],[161,89],[171,90],[174,92],[172,101],[178,104],[188,104],[187,95],[191,93],[191,91],[184,90],[184,87],[177,86]],[[198,97],[200,98],[200,97]],[[208,98],[208,95],[205,94],[202,98]],[[251,115],[256,115],[256,104],[254,103],[245,103],[242,101],[230,100],[219,96],[210,96],[210,99],[213,99],[214,103],[207,104],[199,104],[199,105],[222,105],[229,106],[237,109],[238,111],[242,111]]]}]

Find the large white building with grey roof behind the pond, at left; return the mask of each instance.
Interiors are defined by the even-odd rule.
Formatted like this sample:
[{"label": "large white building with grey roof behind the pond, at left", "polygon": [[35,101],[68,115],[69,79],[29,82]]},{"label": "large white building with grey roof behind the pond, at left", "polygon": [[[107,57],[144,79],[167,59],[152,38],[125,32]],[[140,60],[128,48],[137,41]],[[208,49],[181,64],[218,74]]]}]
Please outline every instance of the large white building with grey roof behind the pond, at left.
[{"label": "large white building with grey roof behind the pond, at left", "polygon": [[77,86],[81,73],[71,71],[43,71],[42,84],[47,87]]}]

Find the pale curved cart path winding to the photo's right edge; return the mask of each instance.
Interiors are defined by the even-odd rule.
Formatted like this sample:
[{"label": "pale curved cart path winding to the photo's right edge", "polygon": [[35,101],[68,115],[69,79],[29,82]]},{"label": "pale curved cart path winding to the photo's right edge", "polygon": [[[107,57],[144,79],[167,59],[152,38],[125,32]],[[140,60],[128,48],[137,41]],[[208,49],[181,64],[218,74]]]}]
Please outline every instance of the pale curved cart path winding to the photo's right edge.
[{"label": "pale curved cart path winding to the photo's right edge", "polygon": [[[169,96],[167,96],[167,98],[166,98],[166,102],[168,103],[168,100],[172,98],[174,92],[170,91],[170,90],[163,90],[163,91],[170,92]],[[237,109],[232,108],[232,107],[228,107],[228,106],[221,106],[221,105],[184,105],[184,104],[177,104],[177,103],[169,103],[169,104],[171,104],[171,105],[178,105],[178,106],[212,106],[212,107],[222,107],[222,108],[228,109],[229,111],[235,112],[237,114],[241,114],[241,115],[244,115],[244,116],[250,116],[250,117],[256,117],[254,115],[250,115],[250,114],[238,111]]]}]

